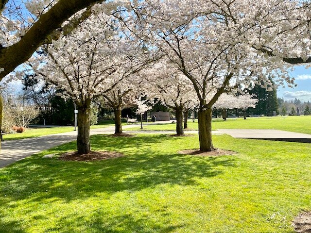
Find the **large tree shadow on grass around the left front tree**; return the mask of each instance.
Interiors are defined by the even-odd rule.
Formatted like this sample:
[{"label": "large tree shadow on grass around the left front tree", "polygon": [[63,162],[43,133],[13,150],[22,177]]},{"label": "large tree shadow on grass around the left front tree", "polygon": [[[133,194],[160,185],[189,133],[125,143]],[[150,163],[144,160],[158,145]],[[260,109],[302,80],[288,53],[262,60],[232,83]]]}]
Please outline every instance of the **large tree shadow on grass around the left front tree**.
[{"label": "large tree shadow on grass around the left front tree", "polygon": [[[104,150],[116,150],[117,145],[118,151],[127,151],[125,157],[99,162],[65,162],[56,158],[30,157],[10,166],[10,178],[3,180],[6,185],[2,192],[16,200],[42,192],[39,195],[42,199],[57,197],[70,201],[93,192],[113,194],[124,190],[137,191],[164,183],[195,185],[196,178],[214,177],[222,173],[222,166],[235,166],[235,157],[163,153],[160,145],[158,150],[152,150],[149,146],[163,140],[163,135],[147,138],[148,142],[144,137],[95,137],[93,148],[103,150],[103,146],[99,145],[104,145]],[[165,140],[174,143],[177,139],[167,137]],[[53,151],[70,150],[72,146],[66,144]],[[131,152],[133,148],[141,149]]]}]

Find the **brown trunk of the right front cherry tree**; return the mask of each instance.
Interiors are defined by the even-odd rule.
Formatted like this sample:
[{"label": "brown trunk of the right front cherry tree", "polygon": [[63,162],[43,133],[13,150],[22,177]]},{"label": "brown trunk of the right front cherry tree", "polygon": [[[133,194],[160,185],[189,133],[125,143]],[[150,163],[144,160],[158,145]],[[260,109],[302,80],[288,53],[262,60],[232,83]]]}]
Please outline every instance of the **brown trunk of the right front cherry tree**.
[{"label": "brown trunk of the right front cherry tree", "polygon": [[212,142],[212,109],[199,109],[199,140],[201,151],[215,150]]}]

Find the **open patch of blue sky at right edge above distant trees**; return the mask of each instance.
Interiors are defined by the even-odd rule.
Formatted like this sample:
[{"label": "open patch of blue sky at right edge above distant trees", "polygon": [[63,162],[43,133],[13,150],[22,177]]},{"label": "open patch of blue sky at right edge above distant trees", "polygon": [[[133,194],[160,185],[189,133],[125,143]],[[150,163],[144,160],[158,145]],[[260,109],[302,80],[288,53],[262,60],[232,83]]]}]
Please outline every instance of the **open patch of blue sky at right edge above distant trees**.
[{"label": "open patch of blue sky at right edge above distant trees", "polygon": [[306,69],[304,66],[295,66],[290,75],[295,78],[296,87],[278,87],[277,97],[284,100],[297,98],[302,101],[311,101],[311,68]]}]

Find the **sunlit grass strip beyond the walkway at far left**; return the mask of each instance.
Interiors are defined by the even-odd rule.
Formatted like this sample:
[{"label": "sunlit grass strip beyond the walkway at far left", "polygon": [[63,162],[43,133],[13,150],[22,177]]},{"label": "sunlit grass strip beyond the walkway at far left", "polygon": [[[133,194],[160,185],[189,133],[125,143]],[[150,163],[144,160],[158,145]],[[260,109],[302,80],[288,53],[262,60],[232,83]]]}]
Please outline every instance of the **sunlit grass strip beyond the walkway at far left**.
[{"label": "sunlit grass strip beyond the walkway at far left", "polygon": [[[91,125],[91,129],[105,128],[109,126],[114,126],[113,121],[102,121],[97,125]],[[65,127],[49,127],[49,128],[27,128],[23,133],[12,133],[4,134],[3,140],[15,140],[24,139],[30,137],[40,137],[44,135],[54,134],[54,133],[67,133],[74,130],[73,126]]]}]

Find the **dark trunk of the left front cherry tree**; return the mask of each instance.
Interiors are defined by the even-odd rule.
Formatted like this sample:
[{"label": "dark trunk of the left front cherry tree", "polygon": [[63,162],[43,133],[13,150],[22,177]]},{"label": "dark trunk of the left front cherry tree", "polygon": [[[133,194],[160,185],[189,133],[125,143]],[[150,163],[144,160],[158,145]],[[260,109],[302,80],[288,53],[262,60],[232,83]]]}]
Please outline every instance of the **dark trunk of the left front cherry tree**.
[{"label": "dark trunk of the left front cherry tree", "polygon": [[91,151],[89,143],[91,100],[86,100],[78,107],[78,154],[87,154]]}]

